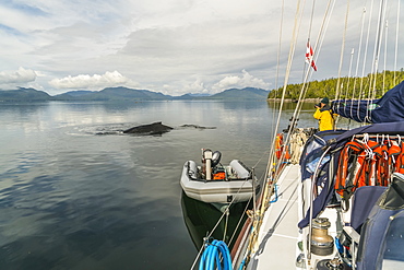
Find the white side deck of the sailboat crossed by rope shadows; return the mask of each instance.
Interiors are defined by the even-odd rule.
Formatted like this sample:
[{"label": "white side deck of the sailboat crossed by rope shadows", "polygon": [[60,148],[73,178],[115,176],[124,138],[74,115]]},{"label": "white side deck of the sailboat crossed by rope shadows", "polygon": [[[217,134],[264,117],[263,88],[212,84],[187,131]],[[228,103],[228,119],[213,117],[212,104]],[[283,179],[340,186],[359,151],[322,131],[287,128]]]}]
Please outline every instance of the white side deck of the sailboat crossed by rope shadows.
[{"label": "white side deck of the sailboat crossed by rope shadows", "polygon": [[299,181],[300,166],[286,166],[277,184],[278,199],[264,215],[259,247],[248,269],[296,269]]}]

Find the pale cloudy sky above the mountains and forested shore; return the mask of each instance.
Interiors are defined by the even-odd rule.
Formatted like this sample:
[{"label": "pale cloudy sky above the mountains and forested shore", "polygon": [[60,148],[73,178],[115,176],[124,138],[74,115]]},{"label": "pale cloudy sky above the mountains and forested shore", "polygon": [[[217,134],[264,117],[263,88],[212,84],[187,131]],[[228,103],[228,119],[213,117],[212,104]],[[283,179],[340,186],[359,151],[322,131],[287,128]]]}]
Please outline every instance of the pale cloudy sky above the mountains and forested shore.
[{"label": "pale cloudy sky above the mountains and forested shore", "polygon": [[[34,87],[56,95],[127,86],[174,96],[272,90],[285,82],[294,33],[288,83],[302,81],[308,37],[318,68],[310,80],[367,74],[375,61],[363,59],[375,58],[377,37],[377,24],[368,22],[378,17],[380,1],[1,0],[0,90]],[[395,54],[400,1],[387,2],[378,70],[404,67],[404,38]],[[302,15],[295,20],[297,7]],[[326,7],[333,9],[322,24]],[[404,17],[399,22],[403,31]]]}]

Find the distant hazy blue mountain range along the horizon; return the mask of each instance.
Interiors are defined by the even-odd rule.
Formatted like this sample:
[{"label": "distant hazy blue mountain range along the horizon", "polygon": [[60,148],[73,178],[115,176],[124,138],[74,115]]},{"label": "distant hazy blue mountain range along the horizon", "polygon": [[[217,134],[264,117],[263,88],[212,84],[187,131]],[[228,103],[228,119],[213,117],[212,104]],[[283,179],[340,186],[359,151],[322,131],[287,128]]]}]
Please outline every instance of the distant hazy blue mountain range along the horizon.
[{"label": "distant hazy blue mountain range along the horizon", "polygon": [[44,102],[44,101],[190,101],[190,99],[266,99],[270,92],[262,89],[229,89],[214,95],[186,94],[181,96],[164,95],[148,90],[134,90],[128,87],[107,87],[102,91],[71,91],[51,96],[35,89],[0,91],[0,102]]}]

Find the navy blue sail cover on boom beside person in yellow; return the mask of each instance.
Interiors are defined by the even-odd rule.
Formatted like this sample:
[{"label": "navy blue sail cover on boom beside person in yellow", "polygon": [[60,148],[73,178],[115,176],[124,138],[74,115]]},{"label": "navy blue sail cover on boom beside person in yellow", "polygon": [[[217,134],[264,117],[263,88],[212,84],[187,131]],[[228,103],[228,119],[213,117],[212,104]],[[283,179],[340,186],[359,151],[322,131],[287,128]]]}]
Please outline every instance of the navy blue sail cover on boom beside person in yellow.
[{"label": "navy blue sail cover on boom beside person in yellow", "polygon": [[358,122],[404,121],[404,81],[373,101],[341,99],[332,103],[335,114]]}]

